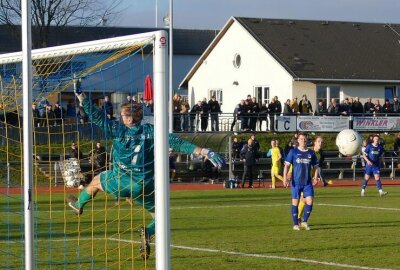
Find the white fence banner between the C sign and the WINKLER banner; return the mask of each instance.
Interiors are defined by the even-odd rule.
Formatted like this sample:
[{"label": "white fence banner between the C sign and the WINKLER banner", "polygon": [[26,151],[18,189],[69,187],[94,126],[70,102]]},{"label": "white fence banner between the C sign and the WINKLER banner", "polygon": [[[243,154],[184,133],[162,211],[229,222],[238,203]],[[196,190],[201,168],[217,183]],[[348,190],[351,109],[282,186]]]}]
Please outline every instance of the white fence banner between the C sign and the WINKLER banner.
[{"label": "white fence banner between the C sign and the WINKLER banner", "polygon": [[349,128],[349,118],[342,116],[298,116],[298,131],[341,131]]}]

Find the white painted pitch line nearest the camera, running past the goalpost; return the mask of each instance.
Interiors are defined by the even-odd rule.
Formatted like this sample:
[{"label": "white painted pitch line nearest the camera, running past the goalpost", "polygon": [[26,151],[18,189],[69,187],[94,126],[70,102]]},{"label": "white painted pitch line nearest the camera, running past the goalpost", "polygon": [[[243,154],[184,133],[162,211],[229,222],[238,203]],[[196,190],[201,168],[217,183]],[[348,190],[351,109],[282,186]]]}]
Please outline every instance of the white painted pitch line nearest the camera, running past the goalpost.
[{"label": "white painted pitch line nearest the camera, running past the goalpost", "polygon": [[[105,240],[105,238],[80,238],[80,241],[101,241]],[[127,239],[118,239],[118,238],[107,238],[109,241],[116,241],[116,242],[124,242],[124,243],[135,243],[139,244],[140,241],[134,240],[127,240]],[[46,240],[38,240],[38,241],[46,241]],[[71,241],[78,241],[77,238],[67,238],[67,239],[52,239],[52,242],[71,242]],[[0,241],[2,244],[7,244],[7,241]],[[22,244],[21,241],[9,241],[8,244]],[[277,256],[277,255],[268,255],[268,254],[253,254],[253,253],[244,253],[244,252],[235,252],[235,251],[226,251],[220,249],[210,249],[210,248],[199,248],[199,247],[189,247],[189,246],[181,246],[181,245],[173,245],[171,244],[172,248],[176,249],[184,249],[184,250],[191,250],[191,251],[201,251],[201,252],[209,252],[209,253],[222,253],[227,255],[235,255],[235,256],[242,256],[242,257],[253,257],[253,258],[261,258],[261,259],[273,259],[273,260],[281,260],[281,261],[292,261],[292,262],[302,262],[308,264],[316,264],[316,265],[326,265],[338,268],[350,268],[350,269],[363,269],[363,270],[391,270],[391,268],[375,268],[375,267],[368,267],[368,266],[360,266],[360,265],[351,265],[351,264],[342,264],[342,263],[335,263],[335,262],[325,262],[325,261],[317,261],[311,259],[301,259],[301,258],[294,258],[294,257],[287,257],[287,256]]]}]

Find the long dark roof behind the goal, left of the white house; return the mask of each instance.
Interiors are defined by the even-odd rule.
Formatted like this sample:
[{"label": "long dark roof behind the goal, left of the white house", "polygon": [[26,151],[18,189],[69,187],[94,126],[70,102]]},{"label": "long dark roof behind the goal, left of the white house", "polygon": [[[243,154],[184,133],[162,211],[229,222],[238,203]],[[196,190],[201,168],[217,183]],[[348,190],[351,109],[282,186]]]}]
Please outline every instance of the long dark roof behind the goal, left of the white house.
[{"label": "long dark roof behind the goal, left of the white house", "polygon": [[[52,27],[47,45],[52,47],[156,30],[166,30],[168,32],[167,28]],[[1,53],[21,51],[21,40],[18,33],[20,33],[19,27],[17,28],[17,34],[14,34],[9,27],[0,25]],[[217,34],[218,31],[215,30],[174,29],[174,54],[201,55]],[[32,38],[35,38],[34,34],[32,34]]]}]

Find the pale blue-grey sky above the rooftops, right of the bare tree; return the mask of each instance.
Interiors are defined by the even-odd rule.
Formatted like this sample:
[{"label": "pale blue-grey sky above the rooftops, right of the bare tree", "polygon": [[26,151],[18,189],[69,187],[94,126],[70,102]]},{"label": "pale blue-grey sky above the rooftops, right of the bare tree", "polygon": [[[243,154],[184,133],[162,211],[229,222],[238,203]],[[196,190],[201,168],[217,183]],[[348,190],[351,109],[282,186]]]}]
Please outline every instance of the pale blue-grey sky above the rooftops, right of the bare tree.
[{"label": "pale blue-grey sky above the rooftops, right of the bare tree", "polygon": [[[111,0],[109,0],[111,1]],[[170,0],[123,0],[112,25],[164,25]],[[400,0],[174,0],[174,28],[221,29],[231,16],[400,24]]]}]

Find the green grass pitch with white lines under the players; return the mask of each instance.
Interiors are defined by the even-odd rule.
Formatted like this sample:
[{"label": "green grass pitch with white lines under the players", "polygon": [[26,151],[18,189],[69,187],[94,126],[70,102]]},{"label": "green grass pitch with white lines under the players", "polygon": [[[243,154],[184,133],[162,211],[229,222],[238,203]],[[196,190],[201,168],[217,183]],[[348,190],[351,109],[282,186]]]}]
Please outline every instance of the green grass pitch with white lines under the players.
[{"label": "green grass pitch with white lines under the players", "polygon": [[[385,190],[317,188],[310,231],[292,230],[289,189],[172,192],[172,269],[400,269],[400,189]],[[154,245],[139,256],[136,206],[101,194],[78,219],[65,196],[37,197],[36,269],[154,269]],[[0,204],[0,268],[21,269],[19,195]]]}]

